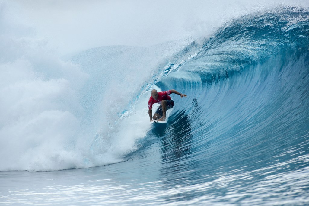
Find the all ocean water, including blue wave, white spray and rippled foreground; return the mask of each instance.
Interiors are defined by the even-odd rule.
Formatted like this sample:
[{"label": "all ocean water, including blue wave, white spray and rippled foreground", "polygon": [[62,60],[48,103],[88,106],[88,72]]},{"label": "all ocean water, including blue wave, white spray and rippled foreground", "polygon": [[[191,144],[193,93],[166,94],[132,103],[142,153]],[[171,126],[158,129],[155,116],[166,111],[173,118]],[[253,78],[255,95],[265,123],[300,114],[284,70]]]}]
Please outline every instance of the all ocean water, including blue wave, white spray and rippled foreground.
[{"label": "all ocean water, including blue wave, white spray and rippled foreground", "polygon": [[[309,204],[308,8],[65,57],[3,22],[0,204]],[[166,125],[153,88],[188,95]]]}]

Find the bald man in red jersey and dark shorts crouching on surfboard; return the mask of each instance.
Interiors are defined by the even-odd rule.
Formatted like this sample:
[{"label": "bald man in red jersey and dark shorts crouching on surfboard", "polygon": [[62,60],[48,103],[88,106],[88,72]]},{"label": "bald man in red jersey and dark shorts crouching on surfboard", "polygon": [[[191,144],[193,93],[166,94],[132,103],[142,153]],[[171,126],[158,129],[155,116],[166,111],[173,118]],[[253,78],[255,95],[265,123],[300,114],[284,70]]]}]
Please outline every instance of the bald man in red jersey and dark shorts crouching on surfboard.
[{"label": "bald man in red jersey and dark shorts crouching on surfboard", "polygon": [[[182,94],[180,92],[177,92],[174,89],[167,90],[165,92],[158,92],[157,90],[153,89],[151,91],[151,97],[149,98],[148,101],[148,114],[150,117],[150,122],[153,120],[158,120],[158,121],[163,121],[166,120],[166,111],[168,109],[173,108],[174,106],[174,101],[171,100],[171,97],[169,96],[171,93],[180,95],[180,97],[187,97],[187,95]],[[154,116],[152,117],[152,105],[158,103],[161,106],[157,109],[155,112]],[[152,117],[152,118],[151,118]]]}]

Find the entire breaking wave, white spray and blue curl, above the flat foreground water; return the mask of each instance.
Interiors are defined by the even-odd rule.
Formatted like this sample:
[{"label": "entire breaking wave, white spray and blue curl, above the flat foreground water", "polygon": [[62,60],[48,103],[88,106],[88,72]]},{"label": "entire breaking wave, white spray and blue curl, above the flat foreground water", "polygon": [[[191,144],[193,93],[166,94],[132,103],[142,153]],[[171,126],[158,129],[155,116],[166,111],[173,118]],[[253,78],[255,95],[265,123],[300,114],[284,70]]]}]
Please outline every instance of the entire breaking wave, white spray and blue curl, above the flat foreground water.
[{"label": "entire breaking wave, white spray and blue curl, above the flat foreground water", "polygon": [[[231,20],[202,40],[94,48],[70,61],[46,57],[38,52],[44,42],[27,40],[38,46],[1,60],[1,96],[9,97],[1,106],[1,155],[9,158],[0,170],[115,163],[147,149],[154,136],[166,144],[167,176],[179,161],[205,171],[256,169],[296,155],[303,159],[286,170],[304,167],[308,16],[308,9],[277,8]],[[172,96],[166,128],[148,124],[154,86],[188,95]]]}]

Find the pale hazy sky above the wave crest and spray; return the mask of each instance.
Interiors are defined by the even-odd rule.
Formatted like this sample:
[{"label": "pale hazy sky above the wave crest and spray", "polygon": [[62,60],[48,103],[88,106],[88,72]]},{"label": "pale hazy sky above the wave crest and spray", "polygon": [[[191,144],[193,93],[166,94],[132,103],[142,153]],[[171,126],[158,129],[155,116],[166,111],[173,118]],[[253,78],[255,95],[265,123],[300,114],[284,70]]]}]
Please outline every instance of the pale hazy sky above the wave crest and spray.
[{"label": "pale hazy sky above the wave crest and spray", "polygon": [[154,45],[207,36],[228,19],[278,5],[309,1],[75,1],[15,2],[23,24],[62,54],[104,45]]}]

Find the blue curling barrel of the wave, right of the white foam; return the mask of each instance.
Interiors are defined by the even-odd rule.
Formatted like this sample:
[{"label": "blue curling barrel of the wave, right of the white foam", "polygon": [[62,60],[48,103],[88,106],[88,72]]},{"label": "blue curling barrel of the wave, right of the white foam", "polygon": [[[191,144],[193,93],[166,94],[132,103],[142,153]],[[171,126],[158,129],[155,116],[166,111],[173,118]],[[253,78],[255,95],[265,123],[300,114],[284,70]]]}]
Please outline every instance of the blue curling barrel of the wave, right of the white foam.
[{"label": "blue curling barrel of the wave, right of the white foam", "polygon": [[279,163],[288,166],[278,171],[308,166],[308,14],[286,7],[243,16],[186,48],[188,55],[177,59],[183,64],[170,64],[177,72],[155,84],[188,99],[174,97],[161,133],[171,144],[164,152],[169,168],[191,161],[194,170],[205,170],[202,176],[244,165],[248,171]]}]

